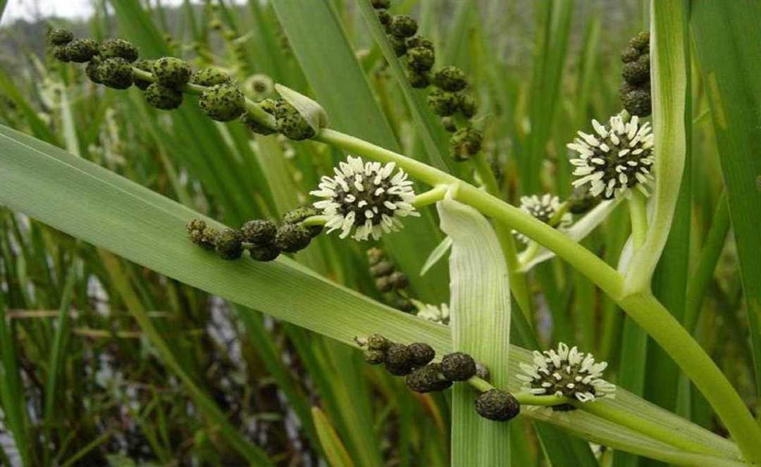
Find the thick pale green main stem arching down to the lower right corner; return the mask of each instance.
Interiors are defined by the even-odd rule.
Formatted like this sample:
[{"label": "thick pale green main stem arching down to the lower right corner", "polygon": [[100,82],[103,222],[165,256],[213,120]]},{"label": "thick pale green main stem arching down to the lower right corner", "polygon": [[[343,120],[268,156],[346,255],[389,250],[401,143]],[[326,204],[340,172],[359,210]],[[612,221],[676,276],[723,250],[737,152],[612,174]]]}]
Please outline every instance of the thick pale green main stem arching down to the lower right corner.
[{"label": "thick pale green main stem arching down to the lower right corner", "polygon": [[750,415],[743,399],[698,342],[649,291],[625,296],[622,276],[602,259],[530,214],[448,173],[331,129],[320,130],[314,139],[353,154],[361,154],[368,159],[394,162],[413,178],[431,186],[448,184],[457,201],[523,233],[565,259],[615,300],[670,354],[712,405],[732,437],[737,440],[743,456],[748,461],[761,465],[761,444],[758,443],[761,440],[761,427]]}]

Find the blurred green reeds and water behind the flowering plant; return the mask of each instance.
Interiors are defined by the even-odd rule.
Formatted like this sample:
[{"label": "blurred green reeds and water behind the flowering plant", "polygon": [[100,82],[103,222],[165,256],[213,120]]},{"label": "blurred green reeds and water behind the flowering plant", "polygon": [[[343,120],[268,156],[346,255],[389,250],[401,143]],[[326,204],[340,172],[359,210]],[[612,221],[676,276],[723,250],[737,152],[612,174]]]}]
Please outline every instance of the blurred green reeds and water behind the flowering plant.
[{"label": "blurred green reeds and water behind the flowering plant", "polygon": [[[339,20],[337,37],[342,27],[346,43],[323,40],[336,24],[308,27],[308,16],[300,22],[293,8],[259,0],[172,6],[158,0],[94,2],[87,21],[6,21],[0,28],[0,122],[230,225],[279,217],[304,204],[319,176],[341,157],[310,142],[255,137],[237,123],[216,124],[190,102],[178,112],[161,113],[135,88],[120,93],[97,87],[81,67],[49,55],[46,30],[68,27],[77,37],[132,40],[146,58],[174,55],[195,68],[220,66],[257,100],[270,97],[272,89],[254,86],[262,77],[251,78],[266,75],[317,97],[338,129],[352,133],[349,122],[360,120],[353,125],[365,125],[359,132],[367,138],[427,160],[410,108],[355,2],[324,2]],[[620,110],[619,52],[648,24],[643,3],[398,0],[392,11],[420,21],[435,41],[437,64],[467,71],[480,103],[476,119],[486,131],[486,151],[505,199],[515,203],[524,194],[568,196],[565,144],[576,130],[588,131],[591,118],[607,119]],[[310,41],[323,47],[323,56],[311,51]],[[334,95],[333,102],[325,102],[326,79],[339,84],[355,79],[340,66],[339,52],[347,47],[368,77],[374,100]],[[321,77],[319,63],[332,75]],[[681,218],[690,265],[698,262],[723,203],[708,103],[698,75],[693,78],[690,157],[696,163],[688,177],[692,202]],[[358,119],[358,113],[372,118]],[[437,138],[443,134],[436,131]],[[472,179],[468,165],[446,160],[455,173]],[[412,224],[380,246],[409,276],[411,297],[445,303],[445,262],[419,275],[443,239],[435,213],[428,210]],[[725,224],[715,233],[722,252],[718,268],[700,291],[705,303],[693,297],[699,311],[694,329],[755,408],[743,295]],[[584,244],[615,265],[628,230],[626,208],[619,208]],[[730,240],[722,249],[724,237]],[[368,272],[368,246],[323,236],[296,258],[393,306]],[[648,350],[645,335],[591,282],[553,260],[535,268],[530,283],[542,345],[575,342],[594,351],[610,362],[616,383],[677,409],[676,396],[662,396],[661,384],[671,384],[667,392],[676,394],[678,382],[663,383],[651,373],[666,357],[654,345]],[[358,465],[447,465],[446,396],[412,394],[400,380],[360,366],[358,353],[349,348],[2,207],[0,287],[2,465],[19,465],[22,458],[27,465],[246,465],[246,446],[200,415],[199,399],[191,396],[196,390],[227,415],[238,436],[260,446],[276,465],[324,465],[317,420],[334,427]],[[158,333],[148,331],[146,319]],[[167,346],[177,365],[167,365],[158,345]],[[312,407],[325,417],[315,418]],[[722,433],[698,396],[679,410]],[[22,421],[21,430],[9,427],[11,418]],[[522,423],[511,434],[514,465],[548,465],[530,424]],[[600,459],[610,463],[613,456]],[[616,465],[638,462],[616,457]]]}]

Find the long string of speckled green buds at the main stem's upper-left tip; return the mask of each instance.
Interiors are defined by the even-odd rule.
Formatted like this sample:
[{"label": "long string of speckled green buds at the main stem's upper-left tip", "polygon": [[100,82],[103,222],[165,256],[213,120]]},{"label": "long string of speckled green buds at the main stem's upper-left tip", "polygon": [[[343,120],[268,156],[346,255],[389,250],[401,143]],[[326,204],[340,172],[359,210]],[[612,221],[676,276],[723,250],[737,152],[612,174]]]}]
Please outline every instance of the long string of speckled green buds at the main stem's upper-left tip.
[{"label": "long string of speckled green buds at the main stem's upper-left tip", "polygon": [[56,59],[86,62],[85,72],[97,84],[113,89],[127,89],[134,84],[143,91],[148,105],[157,109],[177,109],[183,103],[183,92],[200,94],[201,110],[219,122],[240,119],[253,132],[261,135],[279,132],[295,140],[315,135],[295,107],[282,99],[258,103],[275,120],[275,129],[263,125],[247,111],[247,100],[240,87],[218,68],[193,72],[188,62],[176,57],[138,59],[137,47],[123,39],[98,44],[88,38],[75,39],[71,31],[64,29],[51,30],[49,39]]}]

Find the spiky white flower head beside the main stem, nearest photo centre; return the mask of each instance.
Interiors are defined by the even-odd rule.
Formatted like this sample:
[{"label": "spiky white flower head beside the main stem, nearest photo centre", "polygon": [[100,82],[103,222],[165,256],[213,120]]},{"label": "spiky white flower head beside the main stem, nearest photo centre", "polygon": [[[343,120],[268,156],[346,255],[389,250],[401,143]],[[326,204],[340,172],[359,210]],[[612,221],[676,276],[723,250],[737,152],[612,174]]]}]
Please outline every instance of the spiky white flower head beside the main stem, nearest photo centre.
[{"label": "spiky white flower head beside the main stem, nearest photo centre", "polygon": [[322,200],[314,207],[328,218],[328,233],[341,230],[340,237],[375,240],[387,232],[396,232],[403,225],[400,218],[419,216],[412,200],[412,180],[404,170],[393,174],[396,164],[389,162],[364,162],[361,157],[351,157],[339,163],[335,176],[323,176],[320,189],[310,192]]}]

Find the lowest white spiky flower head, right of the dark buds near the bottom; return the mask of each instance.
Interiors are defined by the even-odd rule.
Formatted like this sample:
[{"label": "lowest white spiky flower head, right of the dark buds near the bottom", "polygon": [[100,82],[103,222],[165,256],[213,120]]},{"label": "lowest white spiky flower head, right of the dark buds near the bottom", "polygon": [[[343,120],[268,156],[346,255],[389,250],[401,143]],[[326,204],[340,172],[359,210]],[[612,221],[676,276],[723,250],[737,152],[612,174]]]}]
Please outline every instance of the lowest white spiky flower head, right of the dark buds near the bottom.
[{"label": "lowest white spiky flower head, right of the dark buds near the bottom", "polygon": [[[533,352],[533,365],[521,364],[517,378],[524,389],[537,396],[565,396],[581,402],[592,402],[601,397],[614,397],[616,386],[602,379],[608,366],[594,362],[592,354],[584,354],[578,348],[568,348],[562,342],[558,350]],[[572,406],[556,406],[568,410]]]}]

